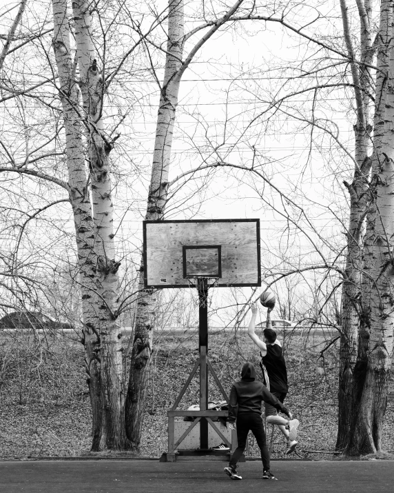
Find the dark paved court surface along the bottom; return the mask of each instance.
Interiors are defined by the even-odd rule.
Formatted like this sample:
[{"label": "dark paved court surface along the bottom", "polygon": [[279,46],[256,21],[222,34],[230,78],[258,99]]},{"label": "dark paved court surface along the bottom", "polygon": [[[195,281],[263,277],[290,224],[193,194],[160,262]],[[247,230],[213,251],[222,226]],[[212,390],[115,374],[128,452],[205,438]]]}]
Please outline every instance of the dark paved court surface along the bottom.
[{"label": "dark paved court surface along the bottom", "polygon": [[257,461],[231,481],[223,461],[5,461],[1,493],[388,493],[394,461],[273,461],[278,481],[261,479]]}]

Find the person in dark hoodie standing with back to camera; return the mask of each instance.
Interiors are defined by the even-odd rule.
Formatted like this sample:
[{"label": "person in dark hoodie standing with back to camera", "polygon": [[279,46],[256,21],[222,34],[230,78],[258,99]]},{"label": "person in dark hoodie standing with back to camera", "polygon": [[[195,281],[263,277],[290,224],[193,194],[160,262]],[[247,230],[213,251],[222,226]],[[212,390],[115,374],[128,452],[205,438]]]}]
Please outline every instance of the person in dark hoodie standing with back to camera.
[{"label": "person in dark hoodie standing with back to camera", "polygon": [[253,363],[248,361],[243,365],[241,380],[234,383],[230,392],[229,419],[227,425],[231,430],[234,430],[234,423],[236,422],[238,441],[238,447],[234,451],[234,454],[231,455],[229,465],[225,467],[225,472],[231,479],[242,479],[236,467],[240,456],[245,450],[249,430],[255,436],[258,447],[260,448],[263,467],[262,478],[276,479],[269,467],[267,439],[261,417],[262,402],[273,405],[274,408],[286,414],[291,419],[291,412],[267,390],[267,387],[262,382],[256,380],[256,369]]}]

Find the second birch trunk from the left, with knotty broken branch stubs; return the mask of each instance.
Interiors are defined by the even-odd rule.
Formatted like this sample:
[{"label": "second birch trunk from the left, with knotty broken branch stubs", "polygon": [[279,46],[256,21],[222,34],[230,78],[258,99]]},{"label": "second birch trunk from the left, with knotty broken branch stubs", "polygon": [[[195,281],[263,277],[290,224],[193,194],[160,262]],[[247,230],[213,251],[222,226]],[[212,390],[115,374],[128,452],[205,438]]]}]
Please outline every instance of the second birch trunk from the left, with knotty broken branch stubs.
[{"label": "second birch trunk from the left, with knotty broken branch stubs", "polygon": [[[92,212],[94,252],[96,253],[97,313],[101,341],[101,436],[98,450],[125,447],[121,332],[118,326],[118,276],[120,262],[115,260],[112,187],[109,155],[113,143],[103,137],[103,70],[92,39],[90,3],[73,0],[75,37],[85,116]],[[105,54],[101,59],[105,59]]]}]

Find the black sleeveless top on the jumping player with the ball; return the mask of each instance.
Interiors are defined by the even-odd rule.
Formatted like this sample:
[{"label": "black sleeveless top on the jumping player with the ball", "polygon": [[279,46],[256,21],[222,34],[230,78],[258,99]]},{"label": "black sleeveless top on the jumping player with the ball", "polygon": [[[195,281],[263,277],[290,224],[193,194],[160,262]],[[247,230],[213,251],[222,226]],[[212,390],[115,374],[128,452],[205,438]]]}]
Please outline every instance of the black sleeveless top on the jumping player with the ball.
[{"label": "black sleeveless top on the jumping player with the ball", "polygon": [[283,350],[278,344],[267,344],[267,354],[261,356],[263,383],[270,392],[287,392],[287,369]]}]

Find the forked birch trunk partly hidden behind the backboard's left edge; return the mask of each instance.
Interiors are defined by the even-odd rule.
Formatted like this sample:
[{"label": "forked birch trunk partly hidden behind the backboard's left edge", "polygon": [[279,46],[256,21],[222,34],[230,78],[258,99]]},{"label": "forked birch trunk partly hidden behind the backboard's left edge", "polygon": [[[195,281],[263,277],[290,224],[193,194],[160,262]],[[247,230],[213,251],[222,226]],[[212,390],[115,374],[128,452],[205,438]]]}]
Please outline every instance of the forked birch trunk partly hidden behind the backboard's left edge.
[{"label": "forked birch trunk partly hidden behind the backboard's left edge", "polygon": [[[194,45],[183,61],[185,41],[198,32],[199,28],[184,34],[184,0],[169,0],[167,53],[163,87],[160,90],[160,104],[156,125],[152,176],[147,199],[146,220],[163,219],[167,202],[168,175],[171,159],[172,135],[178,93],[182,76],[194,59],[195,54],[212,37],[212,35],[238,10],[243,0],[238,0],[229,10],[215,22],[205,23],[201,28],[212,26],[208,32]],[[129,374],[129,386],[126,399],[126,433],[134,450],[139,450],[147,379],[150,359],[152,356],[152,333],[154,328],[154,310],[156,295],[152,290],[144,290],[144,265],[138,282],[139,296],[136,305],[136,325]]]}]

